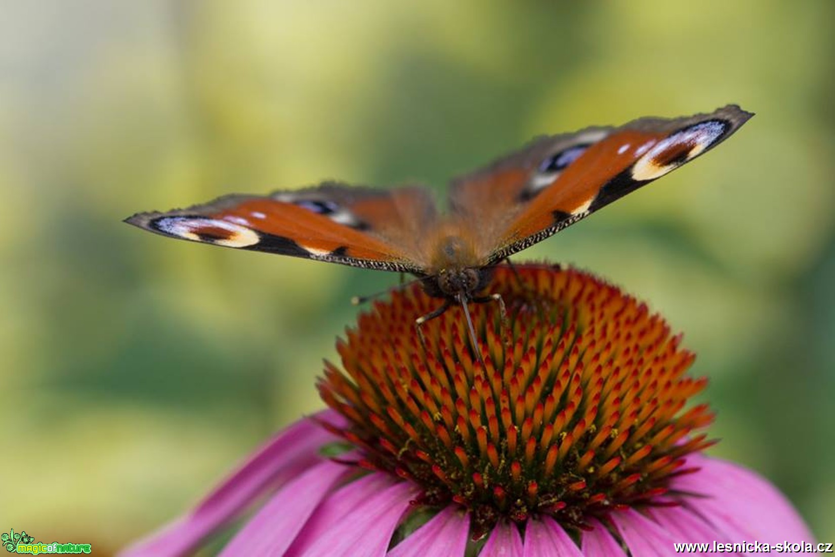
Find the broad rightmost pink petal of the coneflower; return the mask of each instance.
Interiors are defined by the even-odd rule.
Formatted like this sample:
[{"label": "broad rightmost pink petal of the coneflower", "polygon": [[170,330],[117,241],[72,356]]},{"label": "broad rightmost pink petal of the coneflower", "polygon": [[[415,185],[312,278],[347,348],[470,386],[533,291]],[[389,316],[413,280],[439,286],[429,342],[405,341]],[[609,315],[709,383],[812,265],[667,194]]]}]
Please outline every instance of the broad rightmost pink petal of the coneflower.
[{"label": "broad rightmost pink petal of the coneflower", "polygon": [[742,539],[781,544],[814,542],[797,510],[757,473],[718,458],[688,457],[701,467],[676,478],[672,487],[705,497],[688,497],[685,504],[729,541]]}]

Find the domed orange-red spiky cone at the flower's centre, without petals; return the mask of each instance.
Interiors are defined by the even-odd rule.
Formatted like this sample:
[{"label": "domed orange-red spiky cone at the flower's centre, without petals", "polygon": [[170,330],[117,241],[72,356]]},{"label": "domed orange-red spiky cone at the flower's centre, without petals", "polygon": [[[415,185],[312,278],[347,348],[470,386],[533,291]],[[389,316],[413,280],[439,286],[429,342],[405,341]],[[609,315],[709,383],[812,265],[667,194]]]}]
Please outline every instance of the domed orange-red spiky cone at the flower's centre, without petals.
[{"label": "domed orange-red spiky cone at the flower's centre, without petals", "polygon": [[377,302],[326,362],[321,397],[350,421],[334,430],[359,464],[418,484],[421,503],[453,501],[473,534],[502,517],[549,514],[566,526],[652,504],[687,453],[711,442],[687,401],[706,385],[658,315],[590,274],[551,266],[496,270],[473,304],[474,357],[461,308],[423,325],[437,301],[416,285]]}]

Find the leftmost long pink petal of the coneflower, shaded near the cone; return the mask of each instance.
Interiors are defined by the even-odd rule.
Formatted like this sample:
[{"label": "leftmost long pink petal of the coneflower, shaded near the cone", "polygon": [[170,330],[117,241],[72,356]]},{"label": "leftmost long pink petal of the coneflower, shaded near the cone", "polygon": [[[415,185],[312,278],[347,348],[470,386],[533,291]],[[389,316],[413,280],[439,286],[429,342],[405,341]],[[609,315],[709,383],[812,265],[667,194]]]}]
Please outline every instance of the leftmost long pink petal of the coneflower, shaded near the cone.
[{"label": "leftmost long pink petal of the coneflower, shaded near the cone", "polygon": [[[316,418],[335,424],[343,420],[332,410],[318,413]],[[189,553],[266,489],[320,461],[319,448],[334,440],[331,433],[310,418],[294,423],[266,443],[189,514],[124,549],[121,555],[165,557]]]}]

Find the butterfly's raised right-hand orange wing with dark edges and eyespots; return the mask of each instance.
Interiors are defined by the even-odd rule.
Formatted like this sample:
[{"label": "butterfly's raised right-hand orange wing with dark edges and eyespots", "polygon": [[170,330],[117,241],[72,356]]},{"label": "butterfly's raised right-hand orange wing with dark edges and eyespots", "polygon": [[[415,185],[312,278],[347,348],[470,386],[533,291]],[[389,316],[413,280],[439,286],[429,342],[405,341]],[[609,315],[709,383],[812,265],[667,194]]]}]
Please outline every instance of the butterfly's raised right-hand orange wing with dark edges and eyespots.
[{"label": "butterfly's raised right-hand orange wing with dark edges and eyespots", "polygon": [[483,265],[554,235],[727,139],[753,114],[728,105],[539,139],[453,182],[453,212],[478,230]]}]

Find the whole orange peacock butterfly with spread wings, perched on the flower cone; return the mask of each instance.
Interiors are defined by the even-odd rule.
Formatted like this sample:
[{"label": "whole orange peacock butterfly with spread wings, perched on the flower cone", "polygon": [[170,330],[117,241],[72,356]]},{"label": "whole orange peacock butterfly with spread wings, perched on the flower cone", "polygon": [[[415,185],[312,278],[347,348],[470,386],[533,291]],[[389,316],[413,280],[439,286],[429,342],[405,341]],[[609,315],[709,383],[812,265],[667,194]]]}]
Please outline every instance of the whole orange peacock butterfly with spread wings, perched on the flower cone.
[{"label": "whole orange peacock butterfly with spread wings, perched on the flower cone", "polygon": [[[431,296],[489,301],[493,266],[676,170],[752,114],[735,104],[677,119],[642,118],[534,140],[453,180],[448,215],[422,187],[328,182],[127,219],[161,235],[343,265],[412,273]],[[423,322],[418,320],[418,325]]]}]

